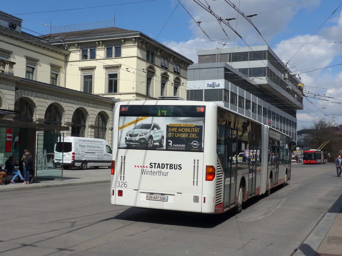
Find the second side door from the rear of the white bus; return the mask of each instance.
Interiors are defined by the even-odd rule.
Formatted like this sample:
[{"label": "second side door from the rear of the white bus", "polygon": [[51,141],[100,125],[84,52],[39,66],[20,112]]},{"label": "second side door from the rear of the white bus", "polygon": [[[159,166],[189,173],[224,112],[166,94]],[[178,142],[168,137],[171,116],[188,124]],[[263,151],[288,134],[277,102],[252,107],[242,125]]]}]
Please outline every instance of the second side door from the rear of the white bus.
[{"label": "second side door from the rear of the white bus", "polygon": [[255,181],[257,173],[257,164],[255,161],[255,154],[257,153],[257,135],[249,133],[249,157],[248,157],[248,197],[255,195]]}]

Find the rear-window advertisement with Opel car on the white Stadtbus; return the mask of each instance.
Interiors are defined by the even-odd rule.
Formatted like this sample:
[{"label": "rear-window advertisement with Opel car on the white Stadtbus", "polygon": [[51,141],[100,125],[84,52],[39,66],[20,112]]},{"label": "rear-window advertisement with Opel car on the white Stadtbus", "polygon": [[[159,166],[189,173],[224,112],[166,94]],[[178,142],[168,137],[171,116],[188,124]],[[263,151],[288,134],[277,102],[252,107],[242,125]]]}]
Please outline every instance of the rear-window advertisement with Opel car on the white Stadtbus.
[{"label": "rear-window advertisement with Opel car on the white Stadtbus", "polygon": [[[203,152],[204,115],[176,106],[137,108],[142,107],[130,105],[120,111],[118,148]],[[138,112],[144,116],[134,116]]]}]

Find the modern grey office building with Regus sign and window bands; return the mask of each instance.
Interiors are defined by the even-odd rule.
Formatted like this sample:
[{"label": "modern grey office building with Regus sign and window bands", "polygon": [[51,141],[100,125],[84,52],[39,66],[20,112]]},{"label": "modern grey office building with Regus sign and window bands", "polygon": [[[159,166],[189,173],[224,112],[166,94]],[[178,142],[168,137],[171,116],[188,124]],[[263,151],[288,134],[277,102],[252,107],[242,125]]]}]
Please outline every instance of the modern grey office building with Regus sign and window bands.
[{"label": "modern grey office building with Regus sign and window bands", "polygon": [[303,85],[268,46],[198,51],[187,77],[187,100],[214,101],[297,139]]}]

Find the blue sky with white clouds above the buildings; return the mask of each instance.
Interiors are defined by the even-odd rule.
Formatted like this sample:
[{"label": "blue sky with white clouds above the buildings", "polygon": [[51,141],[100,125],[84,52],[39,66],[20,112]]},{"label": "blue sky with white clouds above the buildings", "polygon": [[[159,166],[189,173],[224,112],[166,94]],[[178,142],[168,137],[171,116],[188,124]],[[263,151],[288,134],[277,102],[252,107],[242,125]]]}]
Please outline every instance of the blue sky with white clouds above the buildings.
[{"label": "blue sky with white clouds above the buildings", "polygon": [[[18,0],[15,6],[12,2],[3,1],[0,10],[23,19],[23,28],[29,29],[23,30],[34,35],[50,33],[51,23],[53,26],[91,23],[113,20],[115,15],[116,27],[141,31],[195,63],[198,62],[199,49],[267,43],[282,61],[288,62],[292,71],[299,74],[304,84],[307,99],[304,100],[304,110],[297,112],[298,129],[302,125],[310,126],[317,118],[342,124],[342,65],[339,65],[342,63],[342,1],[232,1],[236,9],[245,15],[258,14],[251,21],[261,35],[237,14],[236,9],[228,4],[230,2],[83,0],[80,4],[79,1]],[[223,25],[222,29],[214,16],[198,3],[205,8],[209,4],[212,12],[223,19],[235,17],[229,24],[243,41],[227,26]],[[96,7],[101,5],[108,6]],[[201,22],[200,27],[196,22]],[[322,106],[326,108],[322,109]],[[336,117],[332,119],[332,115]]]}]

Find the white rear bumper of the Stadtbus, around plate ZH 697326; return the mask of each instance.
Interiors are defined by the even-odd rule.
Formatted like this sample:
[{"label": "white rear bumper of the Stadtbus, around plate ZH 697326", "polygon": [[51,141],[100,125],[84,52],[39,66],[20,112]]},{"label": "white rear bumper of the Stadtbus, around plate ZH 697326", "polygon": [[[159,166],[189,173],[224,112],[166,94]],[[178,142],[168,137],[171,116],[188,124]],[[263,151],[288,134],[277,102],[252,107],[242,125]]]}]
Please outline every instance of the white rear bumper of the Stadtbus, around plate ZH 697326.
[{"label": "white rear bumper of the Stadtbus, around plate ZH 697326", "polygon": [[[118,196],[118,194],[122,196]],[[168,199],[167,201],[148,200],[146,199],[147,195],[157,195],[162,197],[167,196]],[[110,204],[146,209],[214,213],[214,197],[214,195],[168,192],[160,193],[158,191],[132,190],[122,188],[110,189]],[[197,198],[198,202],[196,202]]]}]

